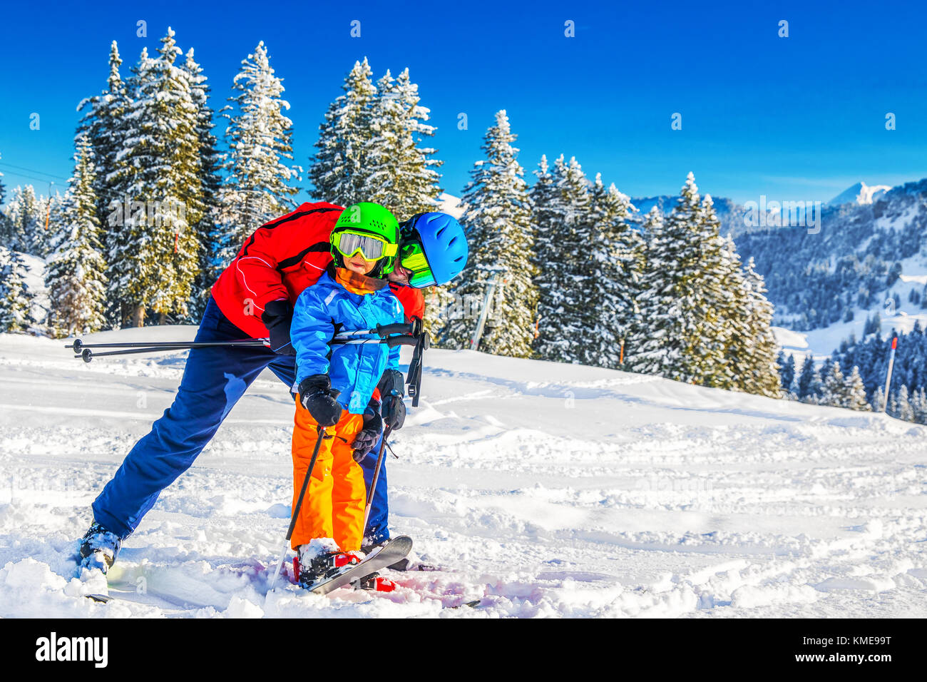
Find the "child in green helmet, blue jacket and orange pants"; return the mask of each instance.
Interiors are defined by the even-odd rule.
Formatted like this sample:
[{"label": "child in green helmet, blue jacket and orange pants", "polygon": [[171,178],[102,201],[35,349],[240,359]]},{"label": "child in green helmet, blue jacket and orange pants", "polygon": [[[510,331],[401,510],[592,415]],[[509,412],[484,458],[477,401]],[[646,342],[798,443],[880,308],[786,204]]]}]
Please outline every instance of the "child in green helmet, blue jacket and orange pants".
[{"label": "child in green helmet, blue jacket and orange pants", "polygon": [[[329,341],[342,328],[402,322],[402,306],[386,278],[396,262],[399,238],[399,222],[384,207],[367,202],[349,206],[332,230],[334,262],[294,306],[294,508],[319,438],[318,427],[325,428],[291,538],[300,585],[310,586],[363,558],[366,489],[358,462],[383,431],[375,389],[385,371],[399,371],[400,349]],[[340,392],[337,397],[335,391]]]}]

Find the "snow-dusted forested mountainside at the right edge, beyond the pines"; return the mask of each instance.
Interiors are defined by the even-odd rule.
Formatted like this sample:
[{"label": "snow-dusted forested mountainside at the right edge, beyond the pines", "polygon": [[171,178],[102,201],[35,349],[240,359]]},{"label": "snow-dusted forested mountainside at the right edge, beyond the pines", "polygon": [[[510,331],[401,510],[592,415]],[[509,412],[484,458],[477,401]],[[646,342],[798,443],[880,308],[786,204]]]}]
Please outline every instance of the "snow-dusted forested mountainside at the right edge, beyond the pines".
[{"label": "snow-dusted forested mountainside at the right edge, beyond the pines", "polygon": [[854,187],[844,194],[873,201],[826,205],[816,228],[735,235],[743,260],[753,257],[766,279],[775,324],[808,331],[927,307],[927,178],[888,191]]}]

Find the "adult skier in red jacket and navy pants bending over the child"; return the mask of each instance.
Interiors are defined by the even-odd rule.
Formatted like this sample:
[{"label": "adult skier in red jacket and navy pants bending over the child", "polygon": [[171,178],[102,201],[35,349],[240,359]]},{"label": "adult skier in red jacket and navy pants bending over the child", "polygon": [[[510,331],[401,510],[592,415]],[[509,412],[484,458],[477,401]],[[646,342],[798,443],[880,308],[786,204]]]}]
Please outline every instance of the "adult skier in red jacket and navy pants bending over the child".
[{"label": "adult skier in red jacket and navy pants bending over the child", "polygon": [[[112,566],[122,540],[133,533],[160,492],[189,469],[261,371],[269,368],[293,392],[295,351],[289,337],[293,303],[332,261],[332,228],[342,212],[352,209],[356,206],[304,203],[261,225],[222,271],[196,341],[269,338],[270,346],[190,351],[173,404],[133,446],[92,505],[94,522],[81,542],[83,566],[104,572]],[[411,288],[450,281],[464,269],[466,258],[464,230],[452,216],[419,213],[401,225],[400,264],[390,275],[390,286],[396,285],[394,291],[403,305],[415,307],[420,305],[421,292]],[[401,426],[397,420],[404,415],[396,402],[388,413],[384,410],[384,423],[393,428]],[[373,463],[365,469],[372,467]],[[376,516],[383,513],[378,509]]]}]

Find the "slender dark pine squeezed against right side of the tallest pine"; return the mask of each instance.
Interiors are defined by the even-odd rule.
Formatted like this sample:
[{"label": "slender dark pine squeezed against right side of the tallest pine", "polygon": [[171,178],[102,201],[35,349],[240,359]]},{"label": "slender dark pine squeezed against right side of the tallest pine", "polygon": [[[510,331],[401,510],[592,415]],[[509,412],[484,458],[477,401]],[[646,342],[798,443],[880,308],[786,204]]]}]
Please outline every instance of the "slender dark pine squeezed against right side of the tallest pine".
[{"label": "slender dark pine squeezed against right side of the tallest pine", "polygon": [[190,302],[189,316],[198,321],[210,301],[210,290],[219,277],[222,256],[221,232],[217,224],[220,209],[220,188],[222,177],[219,174],[222,157],[216,148],[216,136],[212,134],[215,123],[212,122],[213,111],[210,108],[210,86],[197,64],[191,47],[186,53],[184,69],[190,75],[191,94],[197,107],[197,139],[199,140],[199,204],[202,217],[192,225],[199,238],[199,270],[194,282],[193,299]]}]

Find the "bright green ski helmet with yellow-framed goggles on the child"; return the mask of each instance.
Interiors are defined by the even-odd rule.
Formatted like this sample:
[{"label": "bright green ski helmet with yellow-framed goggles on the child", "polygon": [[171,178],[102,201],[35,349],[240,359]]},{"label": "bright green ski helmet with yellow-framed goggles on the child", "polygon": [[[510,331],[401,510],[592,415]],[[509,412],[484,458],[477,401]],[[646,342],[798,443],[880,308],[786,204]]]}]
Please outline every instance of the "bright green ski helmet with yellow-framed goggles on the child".
[{"label": "bright green ski helmet with yellow-framed goggles on the child", "polygon": [[368,277],[385,277],[396,263],[400,224],[387,208],[361,201],[341,212],[329,241],[337,267],[344,267],[344,256],[361,251],[364,260],[376,262]]}]

